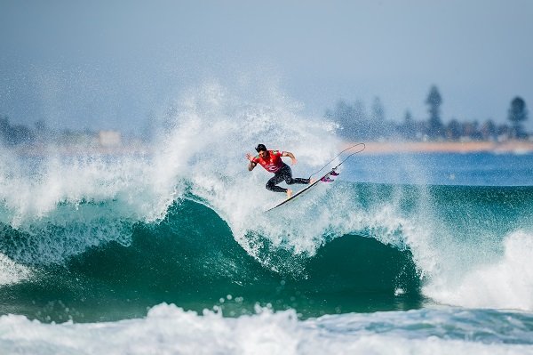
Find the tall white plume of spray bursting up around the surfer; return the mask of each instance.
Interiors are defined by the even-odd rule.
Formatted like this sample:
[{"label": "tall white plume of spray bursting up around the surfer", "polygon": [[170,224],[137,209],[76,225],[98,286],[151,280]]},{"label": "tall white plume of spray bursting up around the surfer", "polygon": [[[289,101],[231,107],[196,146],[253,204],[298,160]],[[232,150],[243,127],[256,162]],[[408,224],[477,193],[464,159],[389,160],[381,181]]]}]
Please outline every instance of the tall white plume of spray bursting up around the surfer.
[{"label": "tall white plume of spray bursting up around the surfer", "polygon": [[[275,99],[279,105],[277,96]],[[171,117],[176,124],[165,138],[165,146],[171,148],[156,159],[181,160],[187,165],[193,198],[214,208],[228,222],[235,239],[259,259],[260,242],[250,240],[253,235],[267,238],[265,243],[270,246],[293,248],[296,254],[320,246],[322,243],[313,241],[320,238],[320,230],[298,232],[303,223],[286,230],[271,221],[277,216],[264,214],[283,196],[265,190],[269,174],[260,168],[249,173],[244,156],[259,142],[269,149],[292,151],[299,161],[292,166],[293,175],[306,176],[338,149],[339,141],[332,135],[334,125],[300,117],[287,109],[293,105],[285,102],[284,106],[243,103],[216,83],[187,93],[179,102],[178,114]],[[296,233],[294,238],[291,232]],[[308,243],[311,245],[304,245]]]}]

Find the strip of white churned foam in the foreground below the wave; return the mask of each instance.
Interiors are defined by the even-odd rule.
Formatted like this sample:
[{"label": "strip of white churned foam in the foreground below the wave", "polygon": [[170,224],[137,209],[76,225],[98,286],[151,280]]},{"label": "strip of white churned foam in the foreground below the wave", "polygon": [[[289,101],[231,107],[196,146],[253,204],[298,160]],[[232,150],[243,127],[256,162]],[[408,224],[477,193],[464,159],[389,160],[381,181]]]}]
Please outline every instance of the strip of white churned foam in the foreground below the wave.
[{"label": "strip of white churned foam in the foreground below the wave", "polygon": [[0,350],[18,354],[531,354],[528,314],[398,311],[298,320],[295,311],[236,319],[160,304],[146,319],[43,324],[0,318]]}]

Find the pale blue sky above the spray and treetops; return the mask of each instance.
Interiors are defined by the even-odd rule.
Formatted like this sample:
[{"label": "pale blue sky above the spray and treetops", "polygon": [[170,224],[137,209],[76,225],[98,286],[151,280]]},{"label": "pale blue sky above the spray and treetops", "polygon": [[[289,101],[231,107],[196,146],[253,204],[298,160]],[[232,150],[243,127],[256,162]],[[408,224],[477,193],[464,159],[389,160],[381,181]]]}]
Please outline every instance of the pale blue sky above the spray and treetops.
[{"label": "pale blue sky above the spray and treetops", "polygon": [[378,96],[389,119],[426,119],[437,85],[445,122],[501,123],[520,95],[532,130],[531,19],[529,0],[0,0],[0,115],[125,129],[251,76],[315,117]]}]

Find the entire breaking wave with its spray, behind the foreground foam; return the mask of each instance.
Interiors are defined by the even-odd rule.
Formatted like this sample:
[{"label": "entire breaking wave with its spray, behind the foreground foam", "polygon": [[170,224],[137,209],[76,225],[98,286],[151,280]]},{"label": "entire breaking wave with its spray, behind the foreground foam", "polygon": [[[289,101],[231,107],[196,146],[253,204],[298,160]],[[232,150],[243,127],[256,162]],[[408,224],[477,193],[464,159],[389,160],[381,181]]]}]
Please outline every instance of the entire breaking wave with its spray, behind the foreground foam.
[{"label": "entire breaking wave with its spray, behind the foreground foam", "polygon": [[348,168],[266,214],[280,195],[265,190],[267,173],[247,171],[245,152],[258,142],[292,151],[294,175],[306,176],[342,142],[282,95],[259,99],[192,90],[150,156],[5,151],[0,312],[91,321],[159,303],[230,316],[256,303],[304,317],[433,303],[533,311],[533,188],[432,185],[416,157],[398,156],[379,178],[409,172],[417,184],[356,182]]}]

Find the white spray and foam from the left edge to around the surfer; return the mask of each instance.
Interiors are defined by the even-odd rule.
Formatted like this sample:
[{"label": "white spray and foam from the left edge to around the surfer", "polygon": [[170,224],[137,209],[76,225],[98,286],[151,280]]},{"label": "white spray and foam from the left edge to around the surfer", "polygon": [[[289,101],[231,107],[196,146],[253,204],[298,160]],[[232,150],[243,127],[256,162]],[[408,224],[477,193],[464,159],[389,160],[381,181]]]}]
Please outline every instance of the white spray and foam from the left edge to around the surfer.
[{"label": "white spray and foam from the left edge to around the surfer", "polygon": [[267,173],[247,171],[245,152],[259,141],[292,150],[300,161],[293,173],[305,175],[337,149],[332,123],[298,116],[298,105],[281,97],[271,90],[271,104],[265,97],[243,101],[217,83],[189,90],[159,123],[150,156],[62,156],[51,148],[43,156],[20,157],[5,150],[3,251],[18,262],[47,264],[112,241],[128,245],[135,222],[162,221],[181,198],[214,208],[247,247],[247,233],[269,224],[251,221],[280,196],[263,188]]}]

